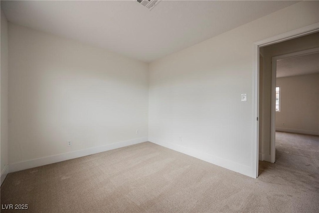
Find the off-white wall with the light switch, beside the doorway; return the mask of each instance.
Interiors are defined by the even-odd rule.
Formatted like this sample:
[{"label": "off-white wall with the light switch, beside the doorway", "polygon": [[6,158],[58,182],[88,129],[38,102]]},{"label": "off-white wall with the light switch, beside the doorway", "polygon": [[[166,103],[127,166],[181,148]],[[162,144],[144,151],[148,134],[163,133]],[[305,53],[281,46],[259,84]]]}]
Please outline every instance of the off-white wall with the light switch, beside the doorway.
[{"label": "off-white wall with the light switch, beside the doorway", "polygon": [[149,140],[254,177],[253,43],[318,14],[302,1],[151,63]]}]

